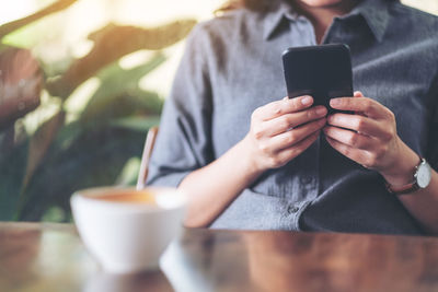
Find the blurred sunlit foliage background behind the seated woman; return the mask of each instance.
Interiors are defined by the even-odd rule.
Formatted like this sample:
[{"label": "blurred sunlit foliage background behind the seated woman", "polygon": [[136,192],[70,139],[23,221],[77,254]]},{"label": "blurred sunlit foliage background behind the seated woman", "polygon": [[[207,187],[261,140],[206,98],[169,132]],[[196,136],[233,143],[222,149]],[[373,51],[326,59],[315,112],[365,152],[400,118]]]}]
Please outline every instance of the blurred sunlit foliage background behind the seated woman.
[{"label": "blurred sunlit foliage background behind the seated woman", "polygon": [[68,222],[74,190],[134,185],[184,38],[222,3],[1,3],[0,221]]}]

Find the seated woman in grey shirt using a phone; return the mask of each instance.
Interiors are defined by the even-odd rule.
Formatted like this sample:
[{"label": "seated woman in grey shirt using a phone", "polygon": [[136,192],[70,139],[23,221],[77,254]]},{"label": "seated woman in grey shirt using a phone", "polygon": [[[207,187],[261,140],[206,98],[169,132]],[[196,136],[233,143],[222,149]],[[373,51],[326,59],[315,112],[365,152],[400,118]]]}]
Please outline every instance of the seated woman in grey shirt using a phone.
[{"label": "seated woman in grey shirt using a phone", "polygon": [[[437,234],[420,160],[438,166],[437,17],[393,0],[231,7],[193,31],[151,159],[149,184],[188,195],[185,224]],[[350,47],[361,92],[331,106],[354,115],[281,98],[281,52],[328,43]]]}]

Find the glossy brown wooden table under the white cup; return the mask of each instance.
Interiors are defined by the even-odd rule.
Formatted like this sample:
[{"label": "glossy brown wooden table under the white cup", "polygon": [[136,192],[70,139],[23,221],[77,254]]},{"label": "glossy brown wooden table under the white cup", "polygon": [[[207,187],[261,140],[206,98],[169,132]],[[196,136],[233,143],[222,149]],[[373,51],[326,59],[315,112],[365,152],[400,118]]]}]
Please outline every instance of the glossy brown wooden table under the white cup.
[{"label": "glossy brown wooden table under the white cup", "polygon": [[438,291],[438,238],[186,230],[162,271],[106,275],[73,225],[0,223],[0,291]]}]

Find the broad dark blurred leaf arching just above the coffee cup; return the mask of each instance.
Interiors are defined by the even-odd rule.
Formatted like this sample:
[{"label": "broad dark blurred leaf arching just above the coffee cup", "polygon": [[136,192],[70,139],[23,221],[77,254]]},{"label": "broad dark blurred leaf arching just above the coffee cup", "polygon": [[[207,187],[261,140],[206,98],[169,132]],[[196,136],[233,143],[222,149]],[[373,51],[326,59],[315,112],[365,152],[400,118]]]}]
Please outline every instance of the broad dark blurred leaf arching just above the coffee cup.
[{"label": "broad dark blurred leaf arching just above the coffee cup", "polygon": [[53,206],[70,212],[78,189],[114,185],[126,162],[140,156],[146,132],[101,127],[83,131],[67,149],[48,157],[24,194],[20,220],[38,221]]}]

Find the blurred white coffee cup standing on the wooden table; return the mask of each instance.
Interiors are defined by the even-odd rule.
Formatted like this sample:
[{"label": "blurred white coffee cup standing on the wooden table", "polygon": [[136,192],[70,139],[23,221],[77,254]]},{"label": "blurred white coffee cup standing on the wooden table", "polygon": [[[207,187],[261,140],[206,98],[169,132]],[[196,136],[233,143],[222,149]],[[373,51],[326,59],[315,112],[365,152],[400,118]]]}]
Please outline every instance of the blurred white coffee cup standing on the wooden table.
[{"label": "blurred white coffee cup standing on the wooden table", "polygon": [[[129,194],[146,194],[153,202],[125,201],[122,196]],[[186,198],[175,188],[102,187],[74,192],[70,203],[79,234],[103,269],[130,273],[158,268],[182,230]]]}]

